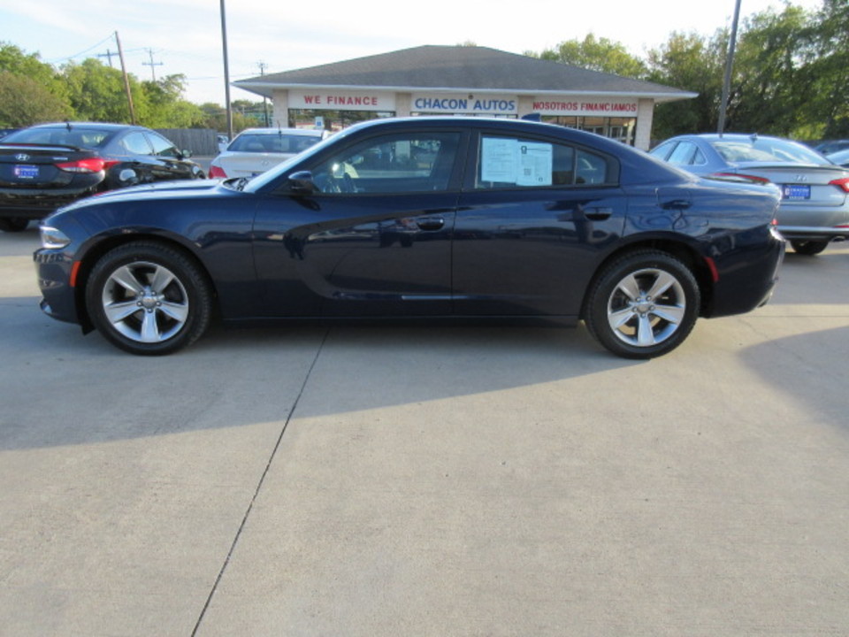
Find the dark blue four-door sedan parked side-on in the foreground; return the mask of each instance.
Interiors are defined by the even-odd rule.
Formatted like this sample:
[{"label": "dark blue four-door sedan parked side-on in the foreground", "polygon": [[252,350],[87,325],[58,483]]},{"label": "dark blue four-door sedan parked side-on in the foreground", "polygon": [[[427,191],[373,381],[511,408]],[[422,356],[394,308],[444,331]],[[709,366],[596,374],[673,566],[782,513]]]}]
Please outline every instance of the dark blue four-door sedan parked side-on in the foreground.
[{"label": "dark blue four-door sedan parked side-on in the foreground", "polygon": [[384,119],[253,180],[172,182],[42,224],[42,309],[134,354],[219,316],[583,319],[622,357],[766,303],[776,188],[526,121]]}]

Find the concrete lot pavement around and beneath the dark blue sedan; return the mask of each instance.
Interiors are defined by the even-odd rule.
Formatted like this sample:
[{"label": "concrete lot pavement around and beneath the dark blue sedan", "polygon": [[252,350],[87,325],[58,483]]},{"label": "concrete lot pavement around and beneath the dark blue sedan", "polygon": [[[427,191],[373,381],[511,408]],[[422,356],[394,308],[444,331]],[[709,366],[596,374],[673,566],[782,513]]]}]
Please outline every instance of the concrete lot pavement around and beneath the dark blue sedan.
[{"label": "concrete lot pavement around and beneath the dark blue sedan", "polygon": [[647,363],[577,330],[41,316],[0,234],[0,635],[843,635],[849,248]]}]

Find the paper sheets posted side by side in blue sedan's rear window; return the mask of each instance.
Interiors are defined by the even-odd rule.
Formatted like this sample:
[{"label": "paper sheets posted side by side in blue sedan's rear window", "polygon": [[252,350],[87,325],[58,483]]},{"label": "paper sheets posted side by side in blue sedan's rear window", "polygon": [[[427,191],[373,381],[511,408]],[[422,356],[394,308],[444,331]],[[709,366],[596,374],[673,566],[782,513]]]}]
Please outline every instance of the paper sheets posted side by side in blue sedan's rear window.
[{"label": "paper sheets posted side by side in blue sedan's rear window", "polygon": [[549,143],[484,137],[481,181],[517,186],[551,186],[554,148]]}]

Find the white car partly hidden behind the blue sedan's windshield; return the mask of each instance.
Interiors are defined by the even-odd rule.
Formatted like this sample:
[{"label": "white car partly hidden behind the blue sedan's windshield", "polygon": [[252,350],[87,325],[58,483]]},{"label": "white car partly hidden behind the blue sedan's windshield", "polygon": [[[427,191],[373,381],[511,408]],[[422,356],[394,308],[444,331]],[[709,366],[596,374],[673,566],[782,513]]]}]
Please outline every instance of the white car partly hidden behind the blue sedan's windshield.
[{"label": "white car partly hidden behind the blue sedan's windshield", "polygon": [[248,128],[210,164],[210,177],[255,177],[329,136],[310,128]]}]

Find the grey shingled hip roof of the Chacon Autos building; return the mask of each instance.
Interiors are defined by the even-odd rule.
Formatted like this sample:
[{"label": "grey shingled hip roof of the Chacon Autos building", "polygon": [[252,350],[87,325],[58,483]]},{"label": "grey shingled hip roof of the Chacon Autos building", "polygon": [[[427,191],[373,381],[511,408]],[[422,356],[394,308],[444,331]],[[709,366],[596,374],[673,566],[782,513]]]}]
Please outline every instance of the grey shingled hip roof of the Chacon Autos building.
[{"label": "grey shingled hip roof of the Chacon Autos building", "polygon": [[233,82],[271,97],[274,88],[474,90],[539,95],[651,97],[668,102],[697,94],[653,82],[478,46],[420,46]]}]

